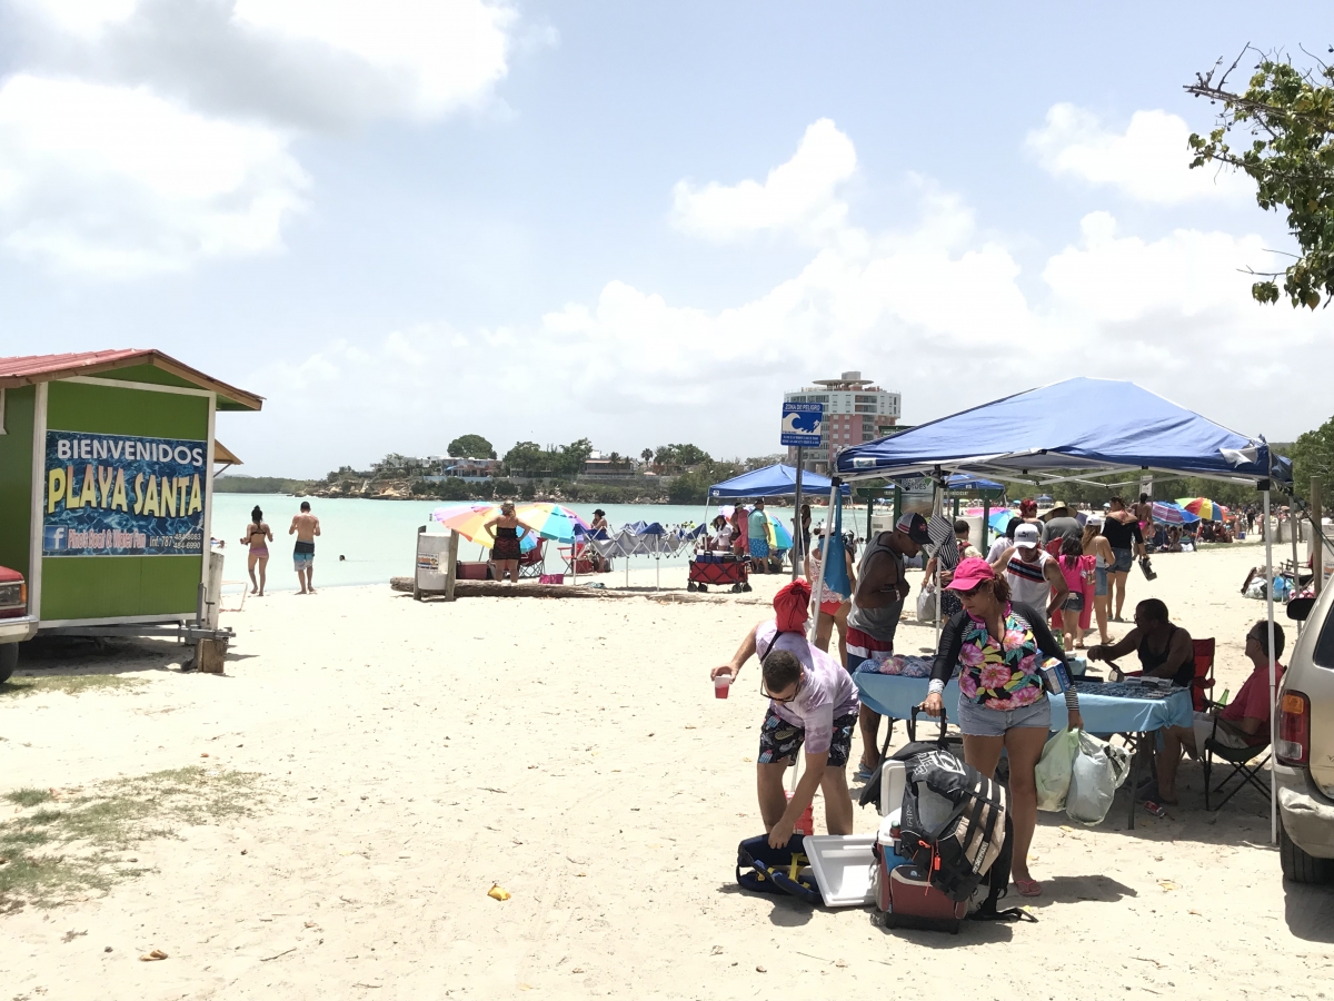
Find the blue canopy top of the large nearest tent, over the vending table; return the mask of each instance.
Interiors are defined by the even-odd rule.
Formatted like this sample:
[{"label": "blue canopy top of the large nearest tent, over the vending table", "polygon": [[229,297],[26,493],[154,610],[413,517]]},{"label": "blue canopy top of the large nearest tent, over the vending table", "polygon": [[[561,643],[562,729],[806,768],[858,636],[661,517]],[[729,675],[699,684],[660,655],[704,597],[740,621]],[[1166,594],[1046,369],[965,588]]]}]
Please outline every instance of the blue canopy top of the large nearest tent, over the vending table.
[{"label": "blue canopy top of the large nearest tent, over the vending table", "polygon": [[[1273,472],[1270,462],[1273,459]],[[1273,475],[1291,463],[1261,438],[1230,431],[1131,382],[1066,379],[1006,396],[839,454],[836,472],[1022,475],[1059,482],[1058,470],[1185,472],[1234,482]]]}]

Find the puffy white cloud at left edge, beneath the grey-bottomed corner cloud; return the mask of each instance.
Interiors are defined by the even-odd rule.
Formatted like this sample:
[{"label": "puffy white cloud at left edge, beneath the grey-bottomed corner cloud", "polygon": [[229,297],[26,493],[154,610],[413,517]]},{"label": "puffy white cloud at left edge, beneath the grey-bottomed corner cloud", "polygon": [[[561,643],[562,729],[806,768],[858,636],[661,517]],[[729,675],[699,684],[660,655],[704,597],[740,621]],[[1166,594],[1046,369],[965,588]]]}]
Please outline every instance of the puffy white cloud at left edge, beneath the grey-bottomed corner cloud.
[{"label": "puffy white cloud at left edge, beneath the grey-bottomed corner cloud", "polygon": [[273,129],[29,75],[0,85],[0,164],[4,246],[111,276],[276,250],[305,187]]}]

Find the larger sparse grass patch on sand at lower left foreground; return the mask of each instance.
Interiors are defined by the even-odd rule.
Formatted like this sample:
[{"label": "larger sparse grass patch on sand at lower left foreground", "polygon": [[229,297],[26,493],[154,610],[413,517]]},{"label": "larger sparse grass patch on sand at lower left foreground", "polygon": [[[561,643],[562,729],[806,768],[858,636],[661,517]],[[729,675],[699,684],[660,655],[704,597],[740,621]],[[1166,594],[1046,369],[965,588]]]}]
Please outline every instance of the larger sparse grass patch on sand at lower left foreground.
[{"label": "larger sparse grass patch on sand at lower left foreground", "polygon": [[121,856],[180,826],[251,815],[263,798],[260,779],[185,767],[103,782],[61,801],[36,789],[7,794],[41,809],[0,823],[0,912],[59,906],[148,872]]}]

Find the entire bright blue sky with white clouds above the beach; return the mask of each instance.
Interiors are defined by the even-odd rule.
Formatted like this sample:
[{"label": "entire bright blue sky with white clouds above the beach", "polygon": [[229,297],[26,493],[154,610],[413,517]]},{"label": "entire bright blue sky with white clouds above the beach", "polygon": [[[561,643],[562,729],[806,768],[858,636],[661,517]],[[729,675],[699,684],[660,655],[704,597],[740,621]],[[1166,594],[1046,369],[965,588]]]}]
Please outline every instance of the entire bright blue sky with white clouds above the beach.
[{"label": "entire bright blue sky with white clouds above the beach", "polygon": [[0,0],[0,354],[260,394],[217,424],[255,475],[768,454],[783,391],[851,368],[910,424],[1089,375],[1291,440],[1334,318],[1251,300],[1294,246],[1189,170],[1182,85],[1331,36],[1315,3]]}]

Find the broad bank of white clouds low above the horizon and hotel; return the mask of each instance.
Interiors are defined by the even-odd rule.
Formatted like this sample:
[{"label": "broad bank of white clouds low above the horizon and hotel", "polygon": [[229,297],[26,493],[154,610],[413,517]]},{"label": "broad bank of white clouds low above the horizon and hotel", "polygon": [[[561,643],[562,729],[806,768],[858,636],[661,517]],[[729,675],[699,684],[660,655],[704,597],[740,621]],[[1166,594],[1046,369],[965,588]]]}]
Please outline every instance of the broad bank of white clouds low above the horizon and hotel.
[{"label": "broad bank of white clouds low above the horizon and hotel", "polygon": [[[1023,286],[1017,256],[958,195],[918,187],[915,222],[884,232],[831,226],[795,275],[727,308],[612,279],[592,302],[512,330],[422,324],[379,338],[368,359],[325,347],[265,367],[256,388],[279,387],[283,406],[339,428],[344,450],[370,442],[370,415],[427,427],[446,418],[448,399],[450,434],[476,430],[455,427],[459,414],[487,412],[486,434],[502,450],[540,428],[543,443],[587,434],[608,451],[671,439],[715,455],[763,454],[776,448],[776,404],[766,422],[755,400],[844,368],[902,390],[914,423],[1075,375],[1130,379],[1270,436],[1327,416],[1321,374],[1334,368],[1334,315],[1250,299],[1238,268],[1265,263],[1261,238],[1178,228],[1145,239],[1093,212],[1047,256],[1041,280]],[[1283,344],[1302,346],[1301,362]],[[502,411],[490,407],[490,380],[450,375],[496,371],[510,400]],[[439,451],[439,442],[422,431],[403,447]],[[331,452],[325,464],[344,456]]]}]

